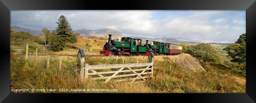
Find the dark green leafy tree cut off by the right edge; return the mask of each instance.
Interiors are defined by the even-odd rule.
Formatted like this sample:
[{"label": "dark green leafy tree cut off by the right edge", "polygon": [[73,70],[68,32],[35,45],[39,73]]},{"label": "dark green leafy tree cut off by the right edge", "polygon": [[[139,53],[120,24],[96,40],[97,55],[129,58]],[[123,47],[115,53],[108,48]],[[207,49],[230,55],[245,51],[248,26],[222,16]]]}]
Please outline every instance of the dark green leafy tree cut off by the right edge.
[{"label": "dark green leafy tree cut off by the right edge", "polygon": [[235,44],[230,44],[223,48],[227,51],[227,57],[232,57],[228,66],[233,72],[246,75],[246,33],[239,36]]}]

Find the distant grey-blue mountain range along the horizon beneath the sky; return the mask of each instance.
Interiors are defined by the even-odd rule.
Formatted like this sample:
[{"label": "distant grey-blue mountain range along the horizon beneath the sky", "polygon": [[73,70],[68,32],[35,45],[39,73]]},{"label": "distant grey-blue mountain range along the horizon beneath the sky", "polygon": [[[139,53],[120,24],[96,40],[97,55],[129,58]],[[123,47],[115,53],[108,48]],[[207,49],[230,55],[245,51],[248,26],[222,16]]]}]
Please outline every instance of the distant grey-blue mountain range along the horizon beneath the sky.
[{"label": "distant grey-blue mountain range along the horizon beneath the sky", "polygon": [[[19,26],[11,26],[11,29],[16,30],[16,31],[23,31],[23,32],[28,32],[32,35],[39,36],[41,31],[40,29],[26,29],[22,28]],[[49,30],[53,31],[53,30]],[[90,29],[76,29],[74,30],[74,33],[80,33],[82,37],[90,37],[90,36],[96,36],[96,37],[105,37],[108,38],[108,34],[112,35],[112,38],[121,38],[125,37],[126,35],[122,35],[119,31],[115,29],[109,29],[109,28],[104,28],[104,29],[96,29],[96,30],[90,30]],[[151,41],[159,41],[159,42],[169,42],[169,43],[174,43],[174,44],[200,44],[202,42],[193,42],[193,41],[181,41],[177,40],[174,38],[147,38],[147,37],[136,37],[136,36],[127,36],[131,38],[139,38],[142,39],[143,43],[146,42],[146,40]],[[211,42],[209,44],[221,44],[221,45],[228,45],[228,44],[234,44],[234,43],[215,43]]]}]

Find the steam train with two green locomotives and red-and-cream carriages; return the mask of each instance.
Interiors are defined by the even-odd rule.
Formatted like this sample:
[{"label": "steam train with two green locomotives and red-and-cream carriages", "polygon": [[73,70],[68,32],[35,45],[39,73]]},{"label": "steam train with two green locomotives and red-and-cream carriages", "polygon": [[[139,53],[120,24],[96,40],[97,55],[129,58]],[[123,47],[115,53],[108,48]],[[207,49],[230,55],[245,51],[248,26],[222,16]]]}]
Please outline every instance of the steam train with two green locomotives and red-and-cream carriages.
[{"label": "steam train with two green locomotives and red-and-cream carriages", "polygon": [[142,45],[142,39],[122,37],[121,40],[111,40],[109,35],[108,41],[100,50],[102,55],[148,55],[150,52],[154,55],[174,55],[182,53],[182,46],[171,43],[153,41]]}]

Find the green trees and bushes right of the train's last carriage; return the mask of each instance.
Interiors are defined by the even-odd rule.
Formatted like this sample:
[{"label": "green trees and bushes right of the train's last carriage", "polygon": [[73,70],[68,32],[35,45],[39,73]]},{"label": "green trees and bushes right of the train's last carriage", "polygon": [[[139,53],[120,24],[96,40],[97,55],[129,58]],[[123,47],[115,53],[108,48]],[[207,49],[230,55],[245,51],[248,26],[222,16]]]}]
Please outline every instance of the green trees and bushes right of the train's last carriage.
[{"label": "green trees and bushes right of the train's last carriage", "polygon": [[[210,44],[180,44],[180,46],[184,53],[188,53],[200,61],[224,64],[221,54]],[[223,50],[228,54],[227,57],[232,58],[224,65],[235,73],[246,75],[246,33],[241,34],[234,44],[229,44]]]}]

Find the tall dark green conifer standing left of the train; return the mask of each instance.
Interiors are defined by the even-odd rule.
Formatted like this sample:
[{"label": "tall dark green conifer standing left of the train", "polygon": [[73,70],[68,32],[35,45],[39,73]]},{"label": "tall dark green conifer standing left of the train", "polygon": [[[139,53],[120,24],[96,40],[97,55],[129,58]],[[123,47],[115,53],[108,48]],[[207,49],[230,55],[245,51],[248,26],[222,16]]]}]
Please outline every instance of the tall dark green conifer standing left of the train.
[{"label": "tall dark green conifer standing left of the train", "polygon": [[[58,19],[58,22],[56,22],[58,24],[58,27],[56,28],[56,35],[58,38],[58,48],[60,48],[60,50],[64,49],[64,45],[67,42],[72,41],[72,29],[71,26],[69,24],[69,22],[67,21],[66,17],[61,15]],[[57,48],[56,48],[57,49]]]}]

